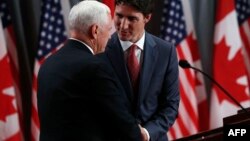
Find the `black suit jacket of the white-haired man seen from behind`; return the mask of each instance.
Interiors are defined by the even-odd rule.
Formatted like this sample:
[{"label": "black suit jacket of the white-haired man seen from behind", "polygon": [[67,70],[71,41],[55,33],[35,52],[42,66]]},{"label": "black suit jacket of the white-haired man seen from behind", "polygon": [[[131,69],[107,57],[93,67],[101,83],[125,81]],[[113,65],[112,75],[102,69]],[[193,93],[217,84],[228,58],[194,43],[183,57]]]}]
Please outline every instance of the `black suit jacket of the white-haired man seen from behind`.
[{"label": "black suit jacket of the white-haired man seen from behind", "polygon": [[82,43],[68,40],[38,75],[41,141],[139,141],[115,73]]}]

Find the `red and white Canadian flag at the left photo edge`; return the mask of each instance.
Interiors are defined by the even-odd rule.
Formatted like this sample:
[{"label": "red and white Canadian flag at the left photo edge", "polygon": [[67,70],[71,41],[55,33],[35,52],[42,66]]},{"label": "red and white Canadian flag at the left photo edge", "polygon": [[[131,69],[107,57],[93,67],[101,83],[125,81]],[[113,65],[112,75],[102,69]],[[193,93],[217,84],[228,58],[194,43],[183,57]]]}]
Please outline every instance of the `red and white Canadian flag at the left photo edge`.
[{"label": "red and white Canadian flag at the left photo edge", "polygon": [[[2,3],[1,6],[3,6]],[[5,29],[8,30],[8,27]],[[7,51],[8,43],[5,39],[8,33],[5,29],[0,19],[0,141],[21,141],[14,78]]]}]

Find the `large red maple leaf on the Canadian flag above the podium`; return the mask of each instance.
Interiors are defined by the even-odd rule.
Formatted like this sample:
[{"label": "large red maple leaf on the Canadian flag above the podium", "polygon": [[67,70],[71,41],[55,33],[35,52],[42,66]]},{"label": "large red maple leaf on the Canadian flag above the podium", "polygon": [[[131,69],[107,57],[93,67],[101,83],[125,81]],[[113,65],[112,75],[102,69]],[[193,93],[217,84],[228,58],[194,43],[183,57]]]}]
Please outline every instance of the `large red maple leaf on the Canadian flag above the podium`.
[{"label": "large red maple leaf on the Canadian flag above the podium", "polygon": [[[237,83],[237,79],[246,75],[246,69],[244,67],[244,60],[241,54],[241,50],[236,52],[236,55],[232,60],[228,59],[228,54],[230,47],[226,45],[225,38],[215,46],[214,49],[214,78],[222,85],[228,92],[230,92],[233,97],[239,101],[243,102],[249,100],[249,96],[246,94],[245,89],[247,86],[243,86]],[[223,100],[230,101],[224,92],[222,92],[217,86],[215,90],[218,94],[219,102]]]}]

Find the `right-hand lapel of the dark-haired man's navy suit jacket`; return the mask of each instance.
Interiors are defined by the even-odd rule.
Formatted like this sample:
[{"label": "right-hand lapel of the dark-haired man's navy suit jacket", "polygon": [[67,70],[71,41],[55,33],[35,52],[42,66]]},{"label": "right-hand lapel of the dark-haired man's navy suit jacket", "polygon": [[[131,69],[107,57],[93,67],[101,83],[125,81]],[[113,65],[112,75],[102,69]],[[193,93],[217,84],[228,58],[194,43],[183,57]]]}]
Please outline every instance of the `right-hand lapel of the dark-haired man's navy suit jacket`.
[{"label": "right-hand lapel of the dark-haired man's navy suit jacket", "polygon": [[147,89],[149,88],[149,83],[155,68],[156,60],[158,56],[158,50],[156,48],[156,43],[147,32],[145,33],[145,45],[143,54],[143,64],[140,73],[140,85],[139,85],[139,104],[143,100]]}]

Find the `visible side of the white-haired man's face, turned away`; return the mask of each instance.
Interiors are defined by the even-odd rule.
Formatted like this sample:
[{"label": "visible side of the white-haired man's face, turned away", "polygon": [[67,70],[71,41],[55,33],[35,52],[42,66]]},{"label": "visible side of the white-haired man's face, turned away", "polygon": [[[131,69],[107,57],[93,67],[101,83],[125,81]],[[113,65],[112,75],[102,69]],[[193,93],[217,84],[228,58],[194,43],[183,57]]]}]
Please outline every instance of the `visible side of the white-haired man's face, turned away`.
[{"label": "visible side of the white-haired man's face, turned away", "polygon": [[112,19],[109,15],[108,23],[100,26],[99,32],[97,33],[97,52],[102,53],[105,51],[108,39],[110,38],[110,31],[112,29]]}]

